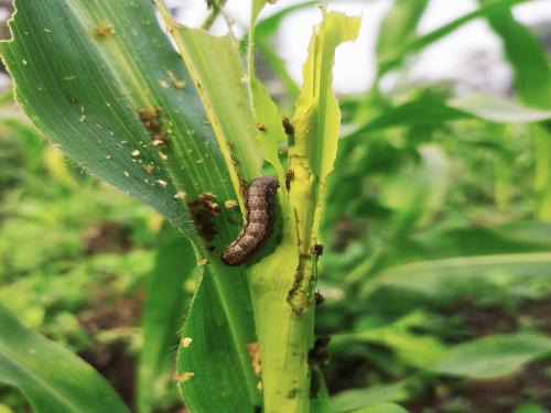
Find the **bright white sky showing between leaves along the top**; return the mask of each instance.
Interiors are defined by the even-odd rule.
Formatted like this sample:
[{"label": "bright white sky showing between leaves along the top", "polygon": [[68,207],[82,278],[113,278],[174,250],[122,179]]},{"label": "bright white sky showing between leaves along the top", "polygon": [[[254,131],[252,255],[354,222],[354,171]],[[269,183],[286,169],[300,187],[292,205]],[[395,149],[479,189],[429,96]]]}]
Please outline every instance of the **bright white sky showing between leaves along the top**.
[{"label": "bright white sky showing between leaves along the top", "polygon": [[[299,2],[301,1],[279,0],[273,6],[268,4],[260,18]],[[192,26],[199,25],[206,13],[204,0],[168,0],[168,3],[180,7],[179,20]],[[227,2],[226,11],[236,21],[237,34],[241,34],[240,28],[247,25],[249,3],[245,0]],[[344,44],[337,50],[334,75],[337,93],[358,93],[371,84],[375,76],[376,35],[391,3],[391,0],[329,2],[329,10],[361,15],[357,41]],[[420,22],[419,32],[430,32],[476,8],[475,0],[431,0]],[[551,0],[532,0],[516,6],[514,14],[525,24],[551,22]],[[298,83],[301,81],[302,63],[306,57],[312,26],[320,21],[320,15],[315,7],[293,13],[283,21],[278,33],[279,53]],[[214,32],[224,34],[222,19],[217,23],[219,24],[213,28]],[[483,55],[483,59],[473,62],[473,56],[479,58]],[[410,65],[408,75],[412,80],[456,79],[466,91],[483,89],[488,93],[503,93],[508,88],[511,76],[503,58],[499,39],[483,20],[473,21],[428,47]],[[472,76],[473,72],[478,72],[477,76]],[[392,78],[389,81],[392,81]]]}]

